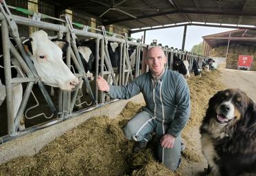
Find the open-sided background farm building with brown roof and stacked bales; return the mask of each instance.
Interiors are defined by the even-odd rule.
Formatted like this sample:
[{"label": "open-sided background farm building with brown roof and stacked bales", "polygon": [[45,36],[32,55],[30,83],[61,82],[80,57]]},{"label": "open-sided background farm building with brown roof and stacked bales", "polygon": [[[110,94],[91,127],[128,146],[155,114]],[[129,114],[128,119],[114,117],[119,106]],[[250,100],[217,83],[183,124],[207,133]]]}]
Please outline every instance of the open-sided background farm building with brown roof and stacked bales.
[{"label": "open-sided background farm building with brown roof and stacked bales", "polygon": [[[255,58],[256,33],[250,29],[236,29],[230,32],[203,36],[204,54],[226,59],[226,68],[237,69],[239,55],[251,55]],[[253,60],[251,70],[255,71]]]}]

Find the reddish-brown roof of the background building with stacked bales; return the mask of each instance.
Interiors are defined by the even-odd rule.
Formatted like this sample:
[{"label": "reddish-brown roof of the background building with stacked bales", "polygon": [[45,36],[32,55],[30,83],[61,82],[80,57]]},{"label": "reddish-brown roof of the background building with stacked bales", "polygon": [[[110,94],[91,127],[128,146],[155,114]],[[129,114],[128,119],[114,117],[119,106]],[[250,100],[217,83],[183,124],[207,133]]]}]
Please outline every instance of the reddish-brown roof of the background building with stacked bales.
[{"label": "reddish-brown roof of the background building with stacked bales", "polygon": [[256,46],[256,31],[250,29],[236,29],[229,32],[211,34],[202,37],[211,48],[221,45]]}]

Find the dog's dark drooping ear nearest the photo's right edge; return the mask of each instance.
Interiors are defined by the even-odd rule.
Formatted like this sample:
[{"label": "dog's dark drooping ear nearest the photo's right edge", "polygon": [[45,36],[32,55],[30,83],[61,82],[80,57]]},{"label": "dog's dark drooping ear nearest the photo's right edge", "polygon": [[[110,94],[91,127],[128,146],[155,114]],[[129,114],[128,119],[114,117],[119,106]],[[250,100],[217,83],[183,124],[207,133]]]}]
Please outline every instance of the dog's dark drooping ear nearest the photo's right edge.
[{"label": "dog's dark drooping ear nearest the photo's right edge", "polygon": [[241,129],[250,135],[256,132],[256,105],[251,99],[249,99]]}]

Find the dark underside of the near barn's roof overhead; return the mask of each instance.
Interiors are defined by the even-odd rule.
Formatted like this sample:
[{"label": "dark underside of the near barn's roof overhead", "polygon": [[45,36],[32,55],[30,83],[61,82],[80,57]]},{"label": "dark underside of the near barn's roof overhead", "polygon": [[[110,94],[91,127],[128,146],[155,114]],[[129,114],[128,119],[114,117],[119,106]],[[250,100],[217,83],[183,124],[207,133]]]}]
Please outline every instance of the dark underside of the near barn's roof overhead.
[{"label": "dark underside of the near barn's roof overhead", "polygon": [[253,0],[44,0],[58,10],[81,10],[100,19],[103,25],[127,29],[158,29],[177,25],[218,26],[231,24],[256,29]]}]

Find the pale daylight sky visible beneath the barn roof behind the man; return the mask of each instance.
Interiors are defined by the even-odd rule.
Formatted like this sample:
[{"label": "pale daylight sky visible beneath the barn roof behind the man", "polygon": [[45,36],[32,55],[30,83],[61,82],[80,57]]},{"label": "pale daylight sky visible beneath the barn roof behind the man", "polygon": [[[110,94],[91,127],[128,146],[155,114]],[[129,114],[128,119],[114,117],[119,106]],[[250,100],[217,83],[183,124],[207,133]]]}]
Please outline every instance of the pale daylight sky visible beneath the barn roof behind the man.
[{"label": "pale daylight sky visible beneath the barn roof behind the man", "polygon": [[[190,51],[194,45],[202,42],[202,36],[227,32],[234,29],[221,27],[200,27],[187,26],[187,36],[185,41],[185,50]],[[183,42],[184,27],[171,27],[169,29],[156,29],[146,32],[146,44],[150,44],[152,40],[157,40],[157,43],[162,43],[163,46],[168,45],[181,49]],[[132,38],[141,38],[143,32],[132,34]]]}]

